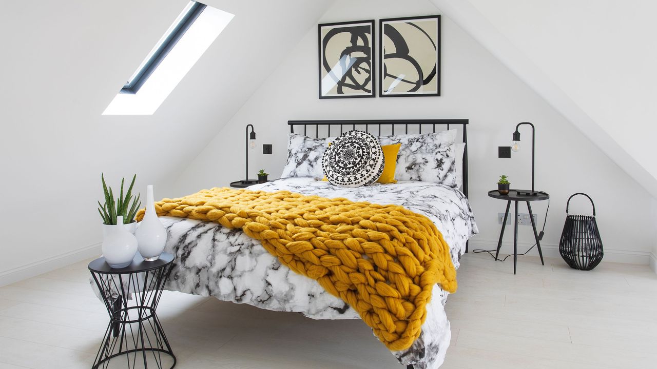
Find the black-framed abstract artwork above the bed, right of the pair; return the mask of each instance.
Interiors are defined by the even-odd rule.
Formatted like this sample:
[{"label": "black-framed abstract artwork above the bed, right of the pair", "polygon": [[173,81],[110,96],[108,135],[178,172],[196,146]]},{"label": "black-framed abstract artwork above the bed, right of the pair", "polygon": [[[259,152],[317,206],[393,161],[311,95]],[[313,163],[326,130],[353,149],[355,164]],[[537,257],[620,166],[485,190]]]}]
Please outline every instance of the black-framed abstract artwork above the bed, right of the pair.
[{"label": "black-framed abstract artwork above the bed, right of the pair", "polygon": [[440,15],[379,22],[379,96],[440,96]]}]

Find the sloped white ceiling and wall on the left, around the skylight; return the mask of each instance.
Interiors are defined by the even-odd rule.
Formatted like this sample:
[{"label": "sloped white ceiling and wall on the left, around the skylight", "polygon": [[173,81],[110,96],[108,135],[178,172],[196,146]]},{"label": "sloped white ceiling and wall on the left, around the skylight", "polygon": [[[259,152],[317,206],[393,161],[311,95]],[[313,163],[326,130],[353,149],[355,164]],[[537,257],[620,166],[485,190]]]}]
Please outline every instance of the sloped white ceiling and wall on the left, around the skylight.
[{"label": "sloped white ceiling and wall on the left, around the skylight", "polygon": [[168,185],[329,3],[208,1],[235,18],[152,116],[101,113],[187,0],[0,3],[0,276],[100,242],[101,172]]}]

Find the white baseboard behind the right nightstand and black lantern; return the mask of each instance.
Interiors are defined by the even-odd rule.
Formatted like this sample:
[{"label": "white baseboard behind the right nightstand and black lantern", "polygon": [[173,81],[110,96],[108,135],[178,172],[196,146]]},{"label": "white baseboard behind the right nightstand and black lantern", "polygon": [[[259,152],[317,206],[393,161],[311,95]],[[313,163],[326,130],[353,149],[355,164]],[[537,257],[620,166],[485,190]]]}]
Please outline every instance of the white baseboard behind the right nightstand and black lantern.
[{"label": "white baseboard behind the right nightstand and black lantern", "polygon": [[[518,242],[518,253],[523,253],[532,247],[533,242]],[[468,249],[483,249],[495,250],[497,248],[497,240],[477,240],[471,238]],[[561,259],[559,255],[559,246],[555,244],[543,244],[541,242],[541,250],[543,250],[544,257],[556,257]],[[502,242],[501,254],[507,255],[513,252],[513,244],[509,242]],[[528,255],[538,256],[537,250],[532,250]],[[628,264],[641,264],[650,265],[652,270],[657,268],[657,258],[650,251],[633,251],[633,250],[616,250],[604,248],[603,262],[610,263],[628,263]]]}]

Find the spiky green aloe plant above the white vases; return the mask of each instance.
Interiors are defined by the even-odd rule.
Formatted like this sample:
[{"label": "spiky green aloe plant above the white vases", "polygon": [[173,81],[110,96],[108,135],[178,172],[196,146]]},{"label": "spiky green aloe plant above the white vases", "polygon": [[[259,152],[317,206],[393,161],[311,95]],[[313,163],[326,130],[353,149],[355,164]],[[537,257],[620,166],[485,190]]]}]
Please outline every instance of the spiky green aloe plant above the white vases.
[{"label": "spiky green aloe plant above the white vases", "polygon": [[115,200],[114,193],[112,192],[112,187],[109,187],[105,183],[105,177],[101,174],[102,181],[102,190],[105,195],[105,203],[101,205],[101,202],[98,202],[98,212],[101,214],[102,223],[106,225],[116,225],[116,217],[122,215],[124,217],[124,224],[132,223],[137,215],[137,210],[141,206],[141,201],[139,201],[139,194],[137,197],[132,194],[132,187],[135,185],[135,179],[137,175],[135,174],[132,177],[132,182],[127,188],[124,196],[124,181],[125,178],[121,179],[121,190],[119,197]]}]

